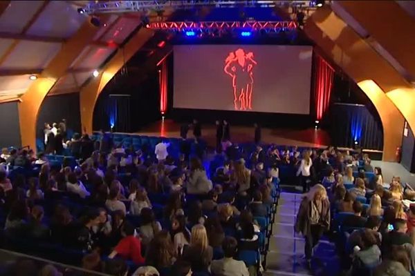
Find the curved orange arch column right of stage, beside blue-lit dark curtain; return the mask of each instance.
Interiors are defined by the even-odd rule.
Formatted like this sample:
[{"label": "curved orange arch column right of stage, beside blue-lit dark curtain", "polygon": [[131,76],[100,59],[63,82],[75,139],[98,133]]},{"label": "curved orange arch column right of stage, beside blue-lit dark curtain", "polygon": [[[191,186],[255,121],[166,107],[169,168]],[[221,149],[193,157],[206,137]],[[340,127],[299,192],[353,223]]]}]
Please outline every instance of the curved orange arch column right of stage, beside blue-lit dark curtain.
[{"label": "curved orange arch column right of stage, beside blue-lit dark curtain", "polygon": [[[333,62],[340,66],[340,68],[342,68],[342,70],[344,70],[344,72],[349,75],[351,79],[354,79],[356,83],[358,83],[358,86],[363,90],[363,92],[365,92],[371,102],[374,103],[383,127],[382,159],[383,161],[394,161],[396,147],[400,146],[402,143],[403,124],[405,119],[394,103],[389,99],[389,97],[387,97],[385,92],[376,84],[375,81],[370,79],[370,71],[364,73],[365,70],[360,70],[360,67],[365,68],[365,65],[361,64],[360,59],[355,56],[356,53],[353,53],[353,50],[350,50],[347,47],[347,45],[349,45],[351,48],[356,47],[356,49],[361,49],[362,41],[350,41],[346,39],[346,37],[342,37],[340,40],[342,43],[335,43],[335,34],[333,34],[333,32],[329,32],[329,34],[324,32],[324,28],[317,26],[313,20],[313,16],[311,19],[308,19],[304,32],[306,32],[308,37],[317,43],[317,46],[328,57],[331,57]],[[344,28],[348,27],[340,26],[338,36],[340,36],[341,32],[346,32]],[[348,31],[349,33],[347,33],[347,37],[354,37],[353,33],[351,33],[350,30]],[[349,43],[347,43],[347,41],[349,41]]]}]

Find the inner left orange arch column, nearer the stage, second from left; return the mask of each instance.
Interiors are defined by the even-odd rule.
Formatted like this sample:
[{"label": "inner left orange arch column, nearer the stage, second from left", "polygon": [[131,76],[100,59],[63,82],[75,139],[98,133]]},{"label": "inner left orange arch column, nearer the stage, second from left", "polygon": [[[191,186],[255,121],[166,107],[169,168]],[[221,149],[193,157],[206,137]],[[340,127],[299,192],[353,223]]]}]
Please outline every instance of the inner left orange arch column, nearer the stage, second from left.
[{"label": "inner left orange arch column, nearer the stage, second from left", "polygon": [[125,44],[124,48],[118,50],[116,55],[104,66],[100,75],[91,79],[89,83],[80,91],[80,110],[82,131],[92,134],[93,108],[100,92],[114,75],[124,66],[133,55],[153,37],[154,31],[147,28],[141,28],[131,39]]}]

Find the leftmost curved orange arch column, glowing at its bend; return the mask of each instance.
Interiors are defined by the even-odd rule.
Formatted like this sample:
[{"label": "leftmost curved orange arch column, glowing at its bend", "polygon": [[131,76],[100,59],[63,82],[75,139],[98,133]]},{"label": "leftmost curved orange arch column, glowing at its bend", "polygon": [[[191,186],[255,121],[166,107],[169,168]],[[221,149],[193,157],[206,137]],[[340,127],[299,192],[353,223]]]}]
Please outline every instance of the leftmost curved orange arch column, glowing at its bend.
[{"label": "leftmost curved orange arch column, glowing at its bend", "polygon": [[[101,17],[102,21],[107,16]],[[33,81],[19,103],[19,124],[21,132],[21,146],[30,146],[36,150],[36,121],[39,108],[56,81],[66,75],[68,67],[77,58],[82,50],[89,45],[96,32],[96,28],[87,20],[81,28],[65,43],[61,50],[50,61],[42,74]],[[65,103],[62,103],[65,104]]]}]

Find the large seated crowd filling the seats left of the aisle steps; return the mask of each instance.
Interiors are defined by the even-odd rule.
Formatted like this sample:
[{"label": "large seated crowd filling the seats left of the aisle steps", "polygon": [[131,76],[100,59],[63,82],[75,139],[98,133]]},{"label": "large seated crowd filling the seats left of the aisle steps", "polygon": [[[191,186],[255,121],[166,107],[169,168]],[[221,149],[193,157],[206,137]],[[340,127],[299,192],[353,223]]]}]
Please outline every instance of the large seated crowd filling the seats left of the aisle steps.
[{"label": "large seated crowd filling the seats left of the aisle steps", "polygon": [[[74,137],[68,145],[75,143]],[[257,275],[268,235],[264,221],[275,211],[271,168],[249,161],[250,170],[244,159],[222,154],[211,175],[203,152],[174,158],[163,153],[163,143],[145,155],[103,135],[92,143],[100,150],[78,156],[79,166],[64,159],[59,168],[46,155],[4,149],[5,168],[24,158],[32,173],[0,170],[6,248],[17,241],[57,244],[62,254],[82,253],[83,268],[110,275],[143,266],[152,275]],[[246,251],[255,253],[254,263],[239,260]]]}]

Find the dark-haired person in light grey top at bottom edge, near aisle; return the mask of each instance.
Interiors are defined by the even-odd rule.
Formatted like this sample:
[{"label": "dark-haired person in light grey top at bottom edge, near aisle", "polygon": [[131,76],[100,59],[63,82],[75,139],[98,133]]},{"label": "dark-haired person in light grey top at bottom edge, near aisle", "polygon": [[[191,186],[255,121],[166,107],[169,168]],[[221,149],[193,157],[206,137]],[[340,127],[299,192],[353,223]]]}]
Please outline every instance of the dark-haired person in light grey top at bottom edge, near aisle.
[{"label": "dark-haired person in light grey top at bottom edge, near aisle", "polygon": [[222,243],[223,259],[215,260],[210,266],[214,276],[248,276],[248,268],[242,261],[234,259],[237,255],[238,242],[234,237],[225,237]]}]

